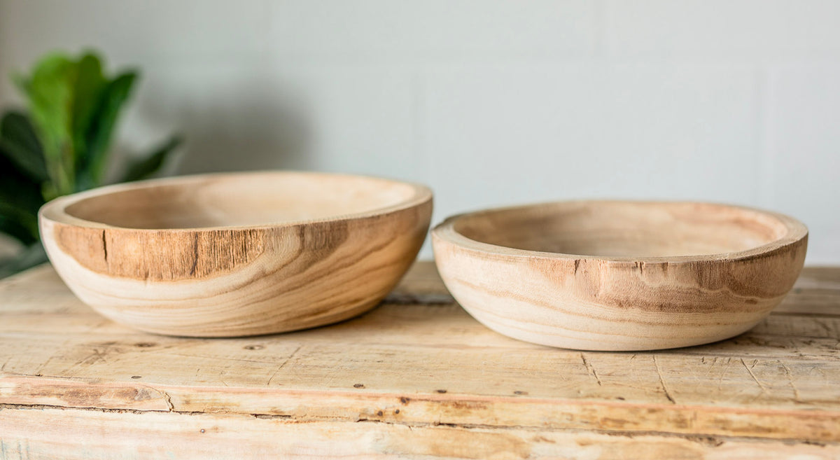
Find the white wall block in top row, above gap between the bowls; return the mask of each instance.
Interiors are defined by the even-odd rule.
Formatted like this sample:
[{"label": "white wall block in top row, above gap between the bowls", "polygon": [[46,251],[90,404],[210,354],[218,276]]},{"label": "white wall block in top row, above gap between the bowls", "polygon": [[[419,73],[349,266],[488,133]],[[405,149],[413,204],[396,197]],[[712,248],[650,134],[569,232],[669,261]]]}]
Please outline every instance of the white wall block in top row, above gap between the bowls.
[{"label": "white wall block in top row, above gap between the bowls", "polygon": [[271,6],[271,50],[331,59],[586,53],[596,25],[587,0],[283,0]]}]

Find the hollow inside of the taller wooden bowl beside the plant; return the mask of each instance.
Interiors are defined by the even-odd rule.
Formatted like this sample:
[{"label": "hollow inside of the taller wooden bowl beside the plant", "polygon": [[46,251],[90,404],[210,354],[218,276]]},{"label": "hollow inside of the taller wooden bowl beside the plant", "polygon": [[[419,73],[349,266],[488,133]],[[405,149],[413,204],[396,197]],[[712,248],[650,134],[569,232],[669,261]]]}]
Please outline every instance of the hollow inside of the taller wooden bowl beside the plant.
[{"label": "hollow inside of the taller wooden bowl beside the plant", "polygon": [[360,176],[205,175],[90,196],[65,212],[114,227],[244,227],[374,212],[416,195],[416,186]]}]

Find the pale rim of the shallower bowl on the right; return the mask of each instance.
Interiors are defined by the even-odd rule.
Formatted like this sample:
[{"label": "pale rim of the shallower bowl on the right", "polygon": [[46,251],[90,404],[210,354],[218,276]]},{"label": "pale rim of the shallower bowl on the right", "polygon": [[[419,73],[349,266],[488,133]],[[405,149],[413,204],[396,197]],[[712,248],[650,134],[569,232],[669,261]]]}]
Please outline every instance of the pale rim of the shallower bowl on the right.
[{"label": "pale rim of the shallower bowl on the right", "polygon": [[[465,217],[473,217],[481,214],[491,212],[514,211],[526,208],[549,207],[559,204],[668,204],[668,205],[704,205],[704,206],[722,206],[732,209],[740,209],[743,211],[756,212],[767,217],[774,217],[778,219],[786,229],[784,235],[780,238],[775,238],[769,243],[764,243],[754,248],[744,249],[742,251],[733,251],[729,253],[717,254],[685,254],[685,255],[671,255],[671,256],[598,256],[593,254],[570,254],[570,253],[554,253],[549,251],[533,251],[528,249],[511,248],[509,246],[501,246],[498,244],[484,243],[472,238],[466,237],[463,233],[455,230],[454,226],[460,219]],[[560,201],[543,201],[538,203],[528,203],[514,206],[499,206],[481,209],[474,212],[462,212],[444,219],[444,222],[438,223],[432,229],[432,246],[434,248],[436,239],[440,238],[449,243],[454,244],[460,248],[468,248],[474,252],[486,254],[488,256],[496,256],[502,258],[525,258],[525,259],[559,259],[559,260],[601,260],[606,262],[617,263],[692,263],[692,262],[710,262],[710,261],[731,261],[740,259],[752,259],[763,254],[771,253],[777,249],[785,248],[791,244],[800,242],[802,239],[808,237],[808,228],[799,220],[781,214],[779,212],[771,212],[759,209],[752,206],[732,205],[728,203],[720,203],[714,201],[682,201],[682,200],[560,200]],[[437,257],[435,257],[437,259]]]}]

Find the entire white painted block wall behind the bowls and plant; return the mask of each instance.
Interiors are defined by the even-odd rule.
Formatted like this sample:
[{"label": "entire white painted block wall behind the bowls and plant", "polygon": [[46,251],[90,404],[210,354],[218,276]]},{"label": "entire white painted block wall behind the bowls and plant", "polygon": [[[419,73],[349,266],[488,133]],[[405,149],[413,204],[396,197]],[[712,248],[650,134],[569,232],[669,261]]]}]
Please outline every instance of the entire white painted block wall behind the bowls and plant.
[{"label": "entire white painted block wall behind the bowls and plant", "polygon": [[0,72],[83,45],[140,65],[122,148],[181,130],[181,173],[416,180],[435,222],[727,201],[800,218],[808,263],[840,264],[838,26],[834,0],[0,0]]}]

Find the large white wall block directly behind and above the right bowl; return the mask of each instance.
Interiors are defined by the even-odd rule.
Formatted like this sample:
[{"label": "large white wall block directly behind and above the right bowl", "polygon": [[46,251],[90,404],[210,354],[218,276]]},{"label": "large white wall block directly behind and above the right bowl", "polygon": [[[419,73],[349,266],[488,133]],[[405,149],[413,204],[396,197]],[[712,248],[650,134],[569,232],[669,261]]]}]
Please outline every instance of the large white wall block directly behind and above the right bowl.
[{"label": "large white wall block directly behind and above the right bowl", "polygon": [[428,71],[428,177],[444,217],[581,196],[754,203],[743,66],[459,66]]}]

